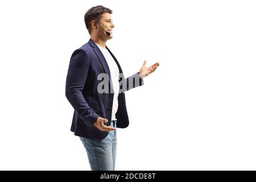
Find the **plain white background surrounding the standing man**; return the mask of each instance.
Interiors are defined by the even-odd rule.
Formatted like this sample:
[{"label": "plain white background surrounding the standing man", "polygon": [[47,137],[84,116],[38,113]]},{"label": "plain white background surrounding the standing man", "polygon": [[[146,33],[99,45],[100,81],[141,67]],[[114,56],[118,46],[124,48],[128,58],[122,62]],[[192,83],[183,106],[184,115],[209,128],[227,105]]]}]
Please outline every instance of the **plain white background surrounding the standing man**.
[{"label": "plain white background surrounding the standing man", "polygon": [[256,169],[255,1],[1,1],[0,169],[90,170],[65,98],[84,14],[113,10],[107,46],[126,76],[117,170]]}]

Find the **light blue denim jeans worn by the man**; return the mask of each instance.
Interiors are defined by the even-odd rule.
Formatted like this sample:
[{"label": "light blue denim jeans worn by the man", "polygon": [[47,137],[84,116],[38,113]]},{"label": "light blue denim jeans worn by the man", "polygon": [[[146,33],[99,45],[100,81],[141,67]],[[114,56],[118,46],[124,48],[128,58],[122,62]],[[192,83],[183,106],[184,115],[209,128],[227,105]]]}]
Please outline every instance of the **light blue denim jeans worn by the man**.
[{"label": "light blue denim jeans worn by the man", "polygon": [[[116,127],[117,121],[111,121]],[[89,139],[80,137],[87,152],[92,171],[114,171],[117,154],[117,131],[109,131],[104,139]]]}]

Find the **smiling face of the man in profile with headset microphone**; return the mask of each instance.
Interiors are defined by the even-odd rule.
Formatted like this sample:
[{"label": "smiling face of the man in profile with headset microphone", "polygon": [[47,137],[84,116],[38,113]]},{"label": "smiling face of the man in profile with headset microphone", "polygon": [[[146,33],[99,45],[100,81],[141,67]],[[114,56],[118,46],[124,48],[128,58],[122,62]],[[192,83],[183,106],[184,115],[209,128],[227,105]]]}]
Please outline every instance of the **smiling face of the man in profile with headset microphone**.
[{"label": "smiling face of the man in profile with headset microphone", "polygon": [[106,35],[106,32],[104,30],[102,30],[102,28],[97,25],[97,32],[98,32],[98,36],[104,38],[104,39],[112,39],[113,38],[113,28],[114,28],[114,24],[113,24],[113,20],[112,20],[112,16],[109,13],[104,13],[101,15],[100,18],[100,22],[98,22],[101,27],[105,30],[105,31],[109,31],[110,32],[110,36]]}]

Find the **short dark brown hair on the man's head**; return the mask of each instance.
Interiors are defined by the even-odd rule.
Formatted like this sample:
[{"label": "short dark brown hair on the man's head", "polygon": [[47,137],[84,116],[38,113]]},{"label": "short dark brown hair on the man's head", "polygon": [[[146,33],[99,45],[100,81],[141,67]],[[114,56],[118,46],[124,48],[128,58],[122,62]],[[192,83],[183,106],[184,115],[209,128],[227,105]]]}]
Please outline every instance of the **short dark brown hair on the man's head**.
[{"label": "short dark brown hair on the man's head", "polygon": [[85,26],[89,32],[89,34],[92,32],[91,30],[91,24],[92,20],[95,20],[96,22],[100,21],[101,15],[104,13],[110,13],[112,14],[112,10],[108,9],[108,7],[104,6],[94,6],[90,8],[84,15],[84,22]]}]

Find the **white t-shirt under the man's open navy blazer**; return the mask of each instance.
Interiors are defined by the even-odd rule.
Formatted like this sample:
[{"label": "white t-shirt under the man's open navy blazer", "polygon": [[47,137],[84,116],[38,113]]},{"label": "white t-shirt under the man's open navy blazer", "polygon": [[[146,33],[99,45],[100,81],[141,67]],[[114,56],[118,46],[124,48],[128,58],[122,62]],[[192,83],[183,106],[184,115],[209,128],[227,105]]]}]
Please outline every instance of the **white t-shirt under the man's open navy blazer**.
[{"label": "white t-shirt under the man's open navy blazer", "polygon": [[117,113],[118,109],[118,93],[119,93],[119,69],[117,67],[117,63],[113,59],[112,55],[110,55],[108,49],[101,47],[100,45],[96,44],[98,48],[100,48],[102,54],[104,55],[108,65],[109,71],[111,75],[111,80],[114,89],[114,98],[113,98],[113,107],[112,107],[112,119],[115,120],[115,113]]}]

